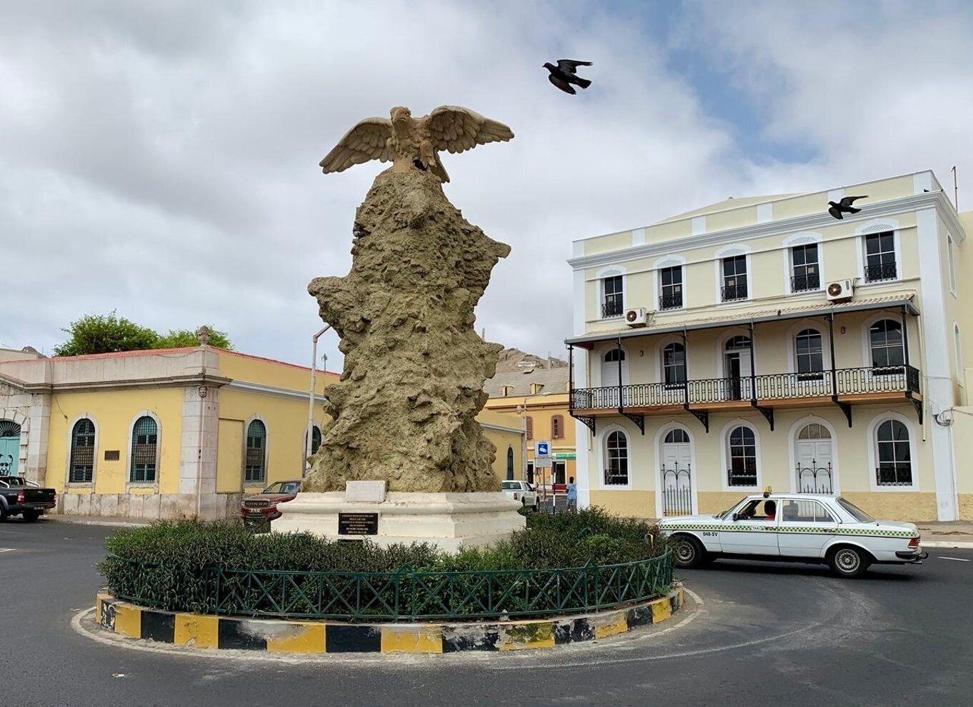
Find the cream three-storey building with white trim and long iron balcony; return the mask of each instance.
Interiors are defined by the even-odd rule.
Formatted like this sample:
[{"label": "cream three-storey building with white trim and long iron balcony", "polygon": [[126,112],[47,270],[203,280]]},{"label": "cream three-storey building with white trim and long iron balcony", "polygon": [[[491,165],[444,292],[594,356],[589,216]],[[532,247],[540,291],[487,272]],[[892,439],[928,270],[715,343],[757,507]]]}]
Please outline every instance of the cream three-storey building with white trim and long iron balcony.
[{"label": "cream three-storey building with white trim and long iron balcony", "polygon": [[580,504],[715,513],[772,485],[973,518],[971,229],[924,171],[575,241]]}]

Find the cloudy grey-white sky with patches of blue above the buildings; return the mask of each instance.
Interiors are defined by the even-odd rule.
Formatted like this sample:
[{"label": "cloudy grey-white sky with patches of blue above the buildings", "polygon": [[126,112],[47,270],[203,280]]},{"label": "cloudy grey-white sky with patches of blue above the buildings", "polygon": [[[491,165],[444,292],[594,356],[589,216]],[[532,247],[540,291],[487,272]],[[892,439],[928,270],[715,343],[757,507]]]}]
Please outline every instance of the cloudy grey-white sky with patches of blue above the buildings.
[{"label": "cloudy grey-white sky with patches of blue above the buildings", "polygon": [[[117,309],[305,363],[306,284],[347,271],[383,166],[317,162],[393,105],[513,127],[445,157],[447,194],[513,247],[478,327],[541,355],[570,333],[572,239],[930,167],[973,185],[967,2],[0,0],[0,17],[9,347],[50,352]],[[594,61],[594,86],[553,88],[541,64],[562,56]],[[339,368],[334,336],[324,350]]]}]

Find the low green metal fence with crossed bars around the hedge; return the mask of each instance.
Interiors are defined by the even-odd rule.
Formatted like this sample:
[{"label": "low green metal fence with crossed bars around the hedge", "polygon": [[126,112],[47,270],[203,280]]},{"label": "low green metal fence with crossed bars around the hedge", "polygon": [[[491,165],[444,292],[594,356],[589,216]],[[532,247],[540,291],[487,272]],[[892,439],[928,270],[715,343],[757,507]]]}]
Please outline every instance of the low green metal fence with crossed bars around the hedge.
[{"label": "low green metal fence with crossed bars around the hedge", "polygon": [[[166,569],[156,563],[136,564],[139,571],[126,575],[137,579],[126,581],[117,596],[170,608],[170,592],[179,589],[167,582]],[[185,600],[204,614],[348,621],[503,619],[602,611],[662,596],[672,583],[672,558],[666,550],[658,557],[618,565],[483,572],[207,567],[201,579],[194,583],[194,596]]]}]

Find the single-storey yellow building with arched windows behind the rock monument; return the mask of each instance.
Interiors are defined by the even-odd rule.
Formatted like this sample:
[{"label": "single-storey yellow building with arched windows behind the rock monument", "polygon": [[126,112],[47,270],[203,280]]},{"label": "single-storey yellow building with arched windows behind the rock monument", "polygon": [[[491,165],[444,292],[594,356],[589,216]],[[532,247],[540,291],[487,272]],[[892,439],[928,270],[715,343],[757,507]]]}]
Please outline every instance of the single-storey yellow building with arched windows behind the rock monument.
[{"label": "single-storey yellow building with arched windows behind the rock monument", "polygon": [[[59,513],[219,518],[304,475],[321,442],[310,369],[200,345],[0,359],[0,464],[57,490]],[[338,379],[317,371],[315,395]],[[523,422],[485,411],[494,471],[523,464]],[[309,440],[308,440],[309,435]]]}]

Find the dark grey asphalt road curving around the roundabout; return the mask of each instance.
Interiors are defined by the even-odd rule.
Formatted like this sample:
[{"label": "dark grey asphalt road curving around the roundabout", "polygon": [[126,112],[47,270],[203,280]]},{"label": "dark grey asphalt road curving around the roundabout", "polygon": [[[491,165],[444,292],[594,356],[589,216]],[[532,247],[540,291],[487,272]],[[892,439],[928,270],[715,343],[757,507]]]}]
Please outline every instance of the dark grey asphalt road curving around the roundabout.
[{"label": "dark grey asphalt road curving around the roundabout", "polygon": [[596,645],[301,660],[136,651],[73,629],[111,532],[0,524],[0,705],[973,703],[971,550],[933,549],[922,566],[877,567],[860,581],[814,566],[716,562],[683,575],[702,602]]}]

